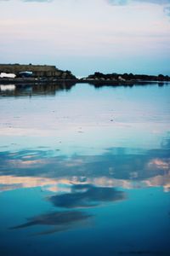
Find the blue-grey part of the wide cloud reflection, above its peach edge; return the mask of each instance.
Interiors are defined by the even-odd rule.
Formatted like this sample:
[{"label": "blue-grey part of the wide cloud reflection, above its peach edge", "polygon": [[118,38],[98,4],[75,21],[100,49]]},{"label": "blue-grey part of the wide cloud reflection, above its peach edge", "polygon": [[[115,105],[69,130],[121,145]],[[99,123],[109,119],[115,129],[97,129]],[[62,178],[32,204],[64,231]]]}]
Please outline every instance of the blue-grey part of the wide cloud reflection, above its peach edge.
[{"label": "blue-grey part of the wide cloud reflection, above its peach edge", "polygon": [[[77,177],[78,181],[84,176],[87,178],[112,177],[108,170],[113,169],[116,179],[128,180],[131,179],[131,172],[138,172],[135,179],[143,180],[164,174],[163,166],[154,168],[152,172],[149,172],[149,163],[156,160],[169,165],[170,150],[168,142],[166,140],[161,145],[161,149],[148,150],[144,154],[138,154],[136,151],[131,154],[124,154],[127,148],[108,148],[105,154],[89,155],[88,157],[86,155],[72,157],[55,155],[50,150],[21,150],[14,154],[9,151],[0,152],[0,175],[67,178],[70,180]],[[18,183],[17,180],[16,183]]]}]

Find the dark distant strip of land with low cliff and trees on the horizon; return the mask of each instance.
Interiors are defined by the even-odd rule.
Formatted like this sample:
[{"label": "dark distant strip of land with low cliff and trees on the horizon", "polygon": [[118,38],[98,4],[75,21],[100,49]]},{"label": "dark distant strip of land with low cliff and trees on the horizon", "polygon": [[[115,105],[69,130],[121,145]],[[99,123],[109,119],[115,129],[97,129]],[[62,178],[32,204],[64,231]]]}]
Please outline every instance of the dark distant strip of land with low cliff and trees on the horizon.
[{"label": "dark distant strip of land with low cliff and trees on the horizon", "polygon": [[60,70],[49,65],[0,64],[0,84],[55,83],[71,81],[90,84],[134,84],[135,82],[169,82],[170,77],[162,74],[145,75],[133,73],[99,73],[77,79],[69,70]]}]

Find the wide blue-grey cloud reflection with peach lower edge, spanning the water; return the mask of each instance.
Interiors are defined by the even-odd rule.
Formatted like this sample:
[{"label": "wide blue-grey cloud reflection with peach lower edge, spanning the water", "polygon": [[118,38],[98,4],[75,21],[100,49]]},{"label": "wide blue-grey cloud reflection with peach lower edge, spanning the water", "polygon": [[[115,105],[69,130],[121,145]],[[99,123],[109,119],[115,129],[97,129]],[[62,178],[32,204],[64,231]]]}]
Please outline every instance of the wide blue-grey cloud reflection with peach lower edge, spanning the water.
[{"label": "wide blue-grey cloud reflection with peach lower edge, spanning the water", "polygon": [[[164,144],[165,145],[165,144]],[[0,191],[47,187],[51,191],[72,189],[72,184],[88,188],[144,186],[170,187],[170,149],[130,150],[108,148],[99,155],[57,155],[51,151],[23,150],[0,153]],[[154,181],[154,182],[153,182]],[[66,188],[67,186],[67,188]],[[90,191],[91,191],[90,190]],[[88,191],[89,192],[89,191]]]}]

